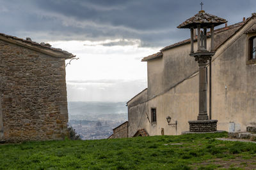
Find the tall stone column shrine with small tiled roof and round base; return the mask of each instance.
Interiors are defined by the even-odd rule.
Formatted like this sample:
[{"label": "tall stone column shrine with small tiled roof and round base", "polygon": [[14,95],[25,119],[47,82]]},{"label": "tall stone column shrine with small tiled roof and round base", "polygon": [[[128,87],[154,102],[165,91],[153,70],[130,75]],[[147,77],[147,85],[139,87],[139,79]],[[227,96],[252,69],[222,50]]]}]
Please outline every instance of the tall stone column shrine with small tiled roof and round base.
[{"label": "tall stone column shrine with small tiled roof and round base", "polygon": [[[199,113],[197,120],[189,121],[190,132],[217,131],[218,120],[209,120],[209,116],[207,115],[207,65],[209,64],[208,61],[211,62],[212,56],[215,54],[214,27],[225,24],[226,22],[227,20],[223,18],[205,13],[204,10],[201,10],[195,16],[178,26],[179,29],[190,29],[191,39],[193,39],[193,41],[194,29],[197,29],[197,51],[194,52],[194,42],[191,41],[191,52],[189,55],[195,57],[199,66]],[[203,31],[201,31],[201,29],[203,29]],[[208,35],[207,29],[211,29]],[[211,38],[210,50],[207,50],[207,36]]]}]

